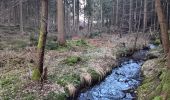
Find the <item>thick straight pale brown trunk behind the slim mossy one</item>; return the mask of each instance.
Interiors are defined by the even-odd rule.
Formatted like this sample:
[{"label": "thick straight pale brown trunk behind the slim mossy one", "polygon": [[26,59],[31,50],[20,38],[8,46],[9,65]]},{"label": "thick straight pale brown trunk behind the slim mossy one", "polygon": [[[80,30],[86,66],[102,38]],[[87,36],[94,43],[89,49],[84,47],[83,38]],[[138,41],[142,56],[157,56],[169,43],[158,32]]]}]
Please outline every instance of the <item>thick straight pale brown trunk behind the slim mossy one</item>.
[{"label": "thick straight pale brown trunk behind the slim mossy one", "polygon": [[58,42],[60,45],[65,45],[65,30],[64,30],[64,6],[63,0],[57,0],[57,26],[58,26]]}]

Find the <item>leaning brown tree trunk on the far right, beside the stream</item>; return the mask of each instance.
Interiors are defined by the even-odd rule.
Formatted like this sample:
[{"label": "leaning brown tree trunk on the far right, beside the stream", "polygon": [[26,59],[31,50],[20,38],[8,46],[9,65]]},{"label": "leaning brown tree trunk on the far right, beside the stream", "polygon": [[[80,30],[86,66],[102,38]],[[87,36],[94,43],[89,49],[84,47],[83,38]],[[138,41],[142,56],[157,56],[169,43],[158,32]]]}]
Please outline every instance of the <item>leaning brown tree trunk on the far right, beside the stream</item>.
[{"label": "leaning brown tree trunk on the far right, beside the stream", "polygon": [[161,38],[162,38],[162,45],[164,48],[164,53],[167,54],[169,52],[169,35],[168,35],[168,27],[166,23],[166,18],[163,13],[163,9],[161,6],[160,0],[155,0],[155,8],[158,16],[158,21],[161,28]]}]

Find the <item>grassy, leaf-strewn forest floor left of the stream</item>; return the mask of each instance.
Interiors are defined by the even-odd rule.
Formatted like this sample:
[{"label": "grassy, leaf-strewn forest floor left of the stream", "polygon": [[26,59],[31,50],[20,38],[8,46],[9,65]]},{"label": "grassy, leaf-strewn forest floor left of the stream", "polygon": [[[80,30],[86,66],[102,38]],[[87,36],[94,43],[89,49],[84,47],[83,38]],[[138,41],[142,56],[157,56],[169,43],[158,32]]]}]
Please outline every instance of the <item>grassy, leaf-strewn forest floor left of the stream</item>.
[{"label": "grassy, leaf-strewn forest floor left of the stream", "polygon": [[[36,62],[37,39],[31,35],[1,31],[0,34],[0,100],[64,100],[82,86],[100,81],[118,64],[117,58],[134,48],[136,34],[102,34],[93,39],[73,38],[59,46],[55,35],[48,36],[44,67],[48,80],[42,85],[32,81]],[[137,49],[149,43],[139,35]],[[32,77],[33,76],[33,77]]]}]

